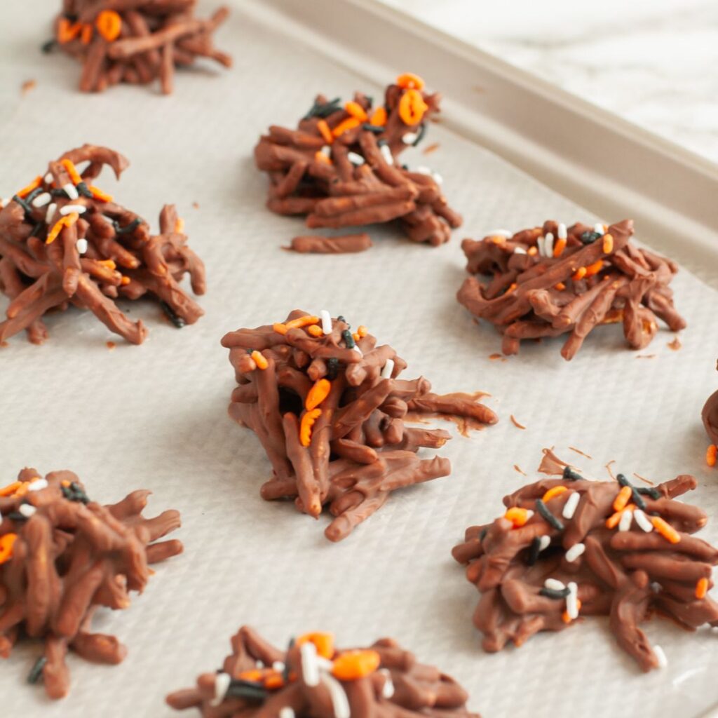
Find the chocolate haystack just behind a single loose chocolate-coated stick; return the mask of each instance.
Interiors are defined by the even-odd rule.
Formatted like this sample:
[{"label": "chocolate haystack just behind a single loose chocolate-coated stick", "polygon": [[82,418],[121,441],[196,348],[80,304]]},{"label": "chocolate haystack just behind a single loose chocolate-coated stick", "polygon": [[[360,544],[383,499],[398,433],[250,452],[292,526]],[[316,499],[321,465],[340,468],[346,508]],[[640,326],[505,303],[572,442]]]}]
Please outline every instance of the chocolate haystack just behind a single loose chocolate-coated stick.
[{"label": "chocolate haystack just behind a single loose chocolate-coated stick", "polygon": [[307,215],[310,228],[398,220],[415,242],[449,241],[462,220],[442,195],[441,177],[398,161],[407,146],[419,144],[440,99],[411,74],[389,85],[376,106],[363,93],[343,106],[340,98],[318,95],[298,129],[271,126],[254,150],[271,182],[267,207]]}]

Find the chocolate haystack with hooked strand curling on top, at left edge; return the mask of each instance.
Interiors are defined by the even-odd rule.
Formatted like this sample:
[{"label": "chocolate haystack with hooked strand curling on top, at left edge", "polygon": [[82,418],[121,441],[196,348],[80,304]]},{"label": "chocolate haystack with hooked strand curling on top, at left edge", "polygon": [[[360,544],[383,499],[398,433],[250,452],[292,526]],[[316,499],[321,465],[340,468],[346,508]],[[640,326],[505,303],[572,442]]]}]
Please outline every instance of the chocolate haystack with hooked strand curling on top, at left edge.
[{"label": "chocolate haystack with hooked strand curling on top, at left edge", "polygon": [[[78,172],[75,165],[85,162]],[[26,330],[31,342],[42,344],[42,316],[70,304],[89,309],[133,344],[141,344],[146,329],[115,299],[154,295],[180,327],[204,313],[179,284],[190,274],[195,294],[205,292],[205,267],[187,246],[174,205],[164,205],[160,233],[152,235],[145,220],[93,186],[106,164],[119,177],[129,162],[89,144],[65,152],[1,207],[0,289],[11,301],[0,341]]]}]

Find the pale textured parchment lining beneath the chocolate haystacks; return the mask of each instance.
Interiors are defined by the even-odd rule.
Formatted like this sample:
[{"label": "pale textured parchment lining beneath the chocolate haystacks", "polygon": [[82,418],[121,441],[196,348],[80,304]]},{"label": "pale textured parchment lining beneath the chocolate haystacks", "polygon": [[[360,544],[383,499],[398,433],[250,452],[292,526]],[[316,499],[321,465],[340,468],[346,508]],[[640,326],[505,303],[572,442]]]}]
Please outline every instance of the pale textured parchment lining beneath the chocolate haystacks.
[{"label": "pale textured parchment lining beneath the chocolate haystacks", "polygon": [[[131,167],[119,186],[104,175],[98,185],[148,219],[175,202],[208,266],[209,290],[201,299],[206,316],[183,330],[156,305],[132,304],[130,316],[150,330],[140,347],[71,311],[48,322],[51,338],[42,348],[18,336],[0,353],[6,480],[31,465],[75,470],[98,500],[149,488],[150,510],[182,512],[177,537],[186,550],[158,567],[129,610],[95,620],[96,630],[128,646],[121,666],[70,656],[72,691],[53,703],[23,683],[39,645],[19,645],[0,669],[4,714],[169,717],[164,695],[220,666],[242,623],[278,643],[305,630],[335,631],[340,645],[393,635],[456,676],[470,690],[470,707],[486,717],[690,717],[717,704],[718,636],[709,630],[689,635],[663,620],[646,625],[669,660],[649,675],[637,671],[600,619],[538,635],[521,650],[483,653],[471,625],[477,593],[449,555],[466,526],[495,517],[503,495],[528,480],[514,465],[533,478],[541,447],[551,445],[593,477],[606,476],[609,460],[654,481],[694,473],[699,488],[686,500],[714,516],[718,483],[704,466],[699,412],[718,383],[716,290],[686,271],[674,281],[689,320],[679,351],[661,331],[633,353],[617,327],[605,327],[572,363],[561,359],[560,342],[490,360],[500,350],[498,335],[477,328],[454,299],[465,276],[460,239],[592,215],[438,124],[424,146],[439,142],[439,149],[429,157],[407,151],[406,161],[440,172],[452,205],[464,213],[449,245],[414,246],[381,230],[373,233],[376,246],[360,255],[285,253],[279,246],[303,225],[264,209],[266,178],[251,160],[256,137],[269,123],[294,123],[317,92],[348,98],[355,89],[376,95],[381,88],[236,11],[218,34],[218,46],[235,56],[229,73],[182,73],[171,98],[131,87],[79,95],[79,67],[36,50],[46,39],[37,19],[56,6],[38,1],[29,13],[13,4],[0,31],[0,194],[83,141],[112,146]],[[28,79],[37,88],[21,96]],[[674,256],[680,259],[679,246]],[[716,254],[706,264],[718,266]],[[408,360],[407,377],[423,374],[440,392],[488,391],[500,414],[497,426],[470,438],[454,432],[442,451],[452,476],[395,493],[337,545],[322,534],[325,518],[315,523],[291,504],[259,498],[269,463],[253,434],[226,416],[233,374],[220,337],[281,320],[294,307],[327,308],[367,325]],[[701,536],[718,541],[718,521]]]}]

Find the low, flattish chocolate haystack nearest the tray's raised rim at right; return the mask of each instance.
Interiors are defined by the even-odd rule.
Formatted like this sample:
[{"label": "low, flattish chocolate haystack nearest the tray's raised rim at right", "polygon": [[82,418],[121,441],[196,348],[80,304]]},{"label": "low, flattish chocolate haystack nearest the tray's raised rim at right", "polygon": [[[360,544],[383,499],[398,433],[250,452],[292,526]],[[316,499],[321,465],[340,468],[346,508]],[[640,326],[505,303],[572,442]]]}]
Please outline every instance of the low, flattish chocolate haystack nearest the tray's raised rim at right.
[{"label": "low, flattish chocolate haystack nearest the tray's raised rim at right", "polygon": [[651,342],[661,319],[674,332],[686,322],[673,307],[668,287],[678,267],[630,242],[633,222],[606,228],[554,221],[511,235],[499,230],[462,248],[471,276],[457,298],[472,314],[503,334],[504,354],[516,354],[523,339],[569,337],[561,349],[572,359],[588,333],[623,324],[633,349]]}]

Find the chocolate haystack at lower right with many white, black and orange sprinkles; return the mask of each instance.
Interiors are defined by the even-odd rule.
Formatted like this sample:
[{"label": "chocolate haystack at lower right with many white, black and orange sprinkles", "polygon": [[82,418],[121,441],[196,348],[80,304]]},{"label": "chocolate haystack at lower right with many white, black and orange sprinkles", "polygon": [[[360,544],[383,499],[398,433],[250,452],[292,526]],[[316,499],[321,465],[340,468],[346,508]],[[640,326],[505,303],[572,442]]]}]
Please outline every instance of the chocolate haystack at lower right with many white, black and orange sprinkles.
[{"label": "chocolate haystack at lower right with many white, black and orange sprinkles", "polygon": [[706,513],[675,500],[696,488],[695,478],[656,488],[617,480],[584,480],[565,467],[559,479],[506,496],[493,523],[467,529],[453,555],[481,594],[474,624],[485,651],[607,615],[618,645],[650,671],[666,663],[638,628],[654,612],[688,630],[718,626],[707,595],[718,549],[691,536]]}]

